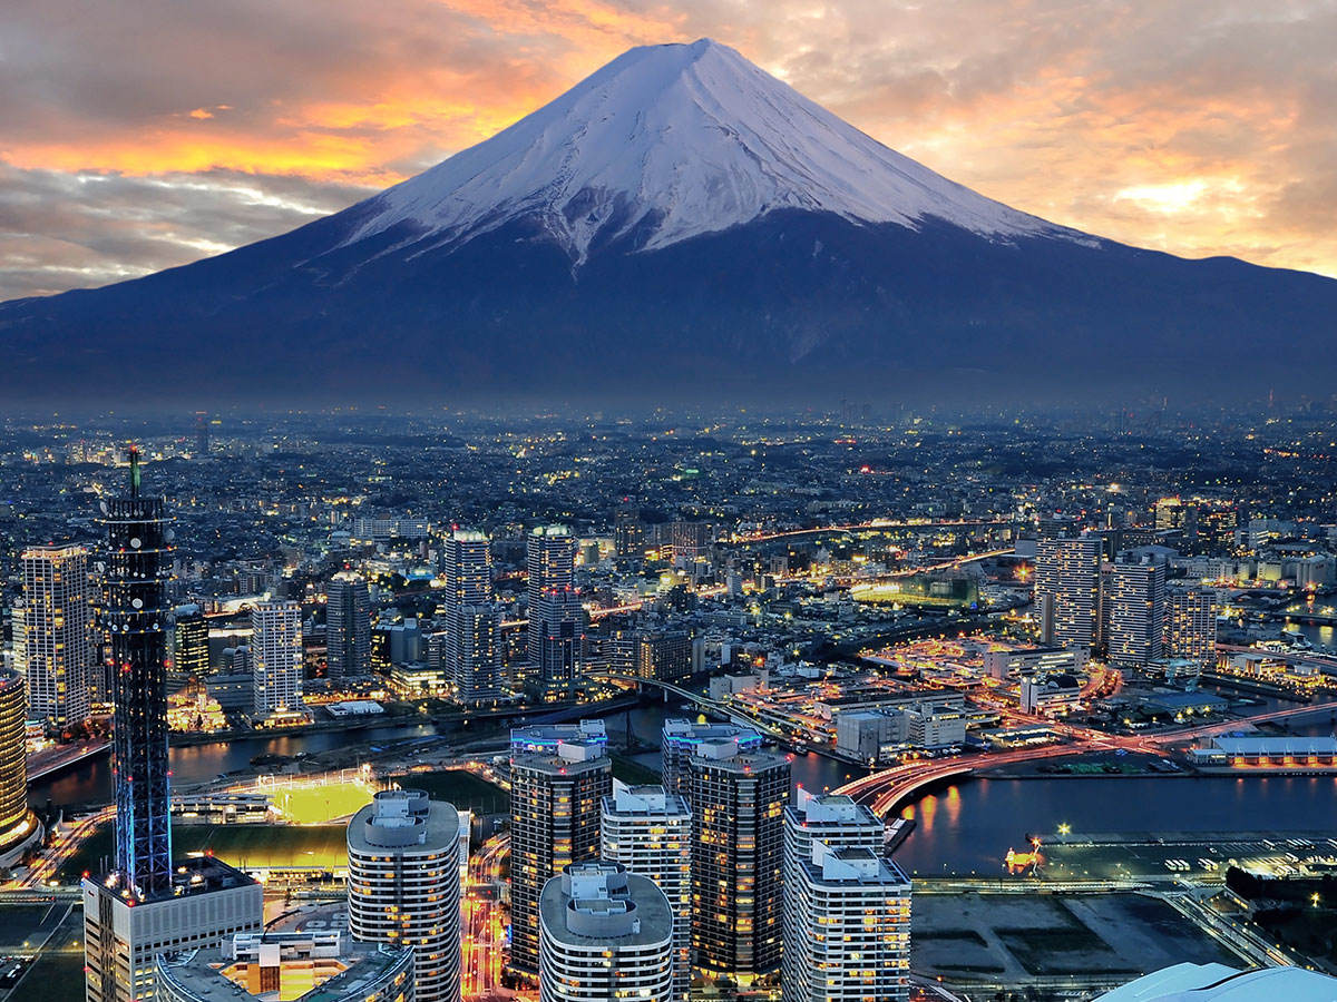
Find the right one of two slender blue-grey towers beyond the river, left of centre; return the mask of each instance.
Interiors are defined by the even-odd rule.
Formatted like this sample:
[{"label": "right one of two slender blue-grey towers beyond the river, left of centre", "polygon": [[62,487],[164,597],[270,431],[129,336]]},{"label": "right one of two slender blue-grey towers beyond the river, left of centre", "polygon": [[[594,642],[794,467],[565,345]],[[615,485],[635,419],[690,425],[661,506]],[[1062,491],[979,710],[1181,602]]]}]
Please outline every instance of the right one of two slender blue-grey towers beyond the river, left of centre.
[{"label": "right one of two slender blue-grey towers beyond the river, left of centre", "polygon": [[584,609],[575,592],[576,541],[564,525],[533,529],[527,542],[527,680],[547,697],[570,695],[584,655]]}]

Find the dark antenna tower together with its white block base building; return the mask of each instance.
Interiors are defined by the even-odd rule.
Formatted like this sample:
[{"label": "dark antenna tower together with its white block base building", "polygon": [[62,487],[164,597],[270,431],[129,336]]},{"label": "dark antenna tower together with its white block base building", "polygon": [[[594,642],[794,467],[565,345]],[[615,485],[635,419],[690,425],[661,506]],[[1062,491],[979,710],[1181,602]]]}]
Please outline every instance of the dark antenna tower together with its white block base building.
[{"label": "dark antenna tower together with its white block base building", "polygon": [[262,890],[211,856],[171,858],[167,771],[167,578],[172,533],[160,497],[102,502],[107,526],[106,607],[116,701],[116,868],[83,880],[87,1002],[131,1002],[154,990],[154,958],[214,946],[259,929]]}]

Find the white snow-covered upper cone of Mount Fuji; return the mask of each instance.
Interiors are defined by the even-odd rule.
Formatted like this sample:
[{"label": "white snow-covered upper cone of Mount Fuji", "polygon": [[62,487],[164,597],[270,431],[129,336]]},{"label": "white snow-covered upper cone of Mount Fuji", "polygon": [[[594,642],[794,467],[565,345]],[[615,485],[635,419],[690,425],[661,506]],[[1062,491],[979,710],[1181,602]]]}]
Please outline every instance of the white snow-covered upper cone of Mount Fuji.
[{"label": "white snow-covered upper cone of Mount Fuji", "polygon": [[634,48],[491,139],[357,207],[356,243],[467,240],[535,220],[583,261],[635,230],[656,248],[778,208],[985,236],[1088,240],[987,199],[889,150],[710,39]]}]

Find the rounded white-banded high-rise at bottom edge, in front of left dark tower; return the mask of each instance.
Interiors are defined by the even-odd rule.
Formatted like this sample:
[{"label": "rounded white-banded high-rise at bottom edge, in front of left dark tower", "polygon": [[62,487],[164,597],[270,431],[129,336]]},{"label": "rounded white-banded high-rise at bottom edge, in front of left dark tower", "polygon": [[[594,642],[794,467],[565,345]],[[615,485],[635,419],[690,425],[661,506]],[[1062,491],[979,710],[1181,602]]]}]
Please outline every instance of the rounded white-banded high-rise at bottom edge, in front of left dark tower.
[{"label": "rounded white-banded high-rise at bottom edge, in front of left dark tower", "polygon": [[673,911],[654,880],[574,863],[539,900],[540,1002],[670,1002]]}]

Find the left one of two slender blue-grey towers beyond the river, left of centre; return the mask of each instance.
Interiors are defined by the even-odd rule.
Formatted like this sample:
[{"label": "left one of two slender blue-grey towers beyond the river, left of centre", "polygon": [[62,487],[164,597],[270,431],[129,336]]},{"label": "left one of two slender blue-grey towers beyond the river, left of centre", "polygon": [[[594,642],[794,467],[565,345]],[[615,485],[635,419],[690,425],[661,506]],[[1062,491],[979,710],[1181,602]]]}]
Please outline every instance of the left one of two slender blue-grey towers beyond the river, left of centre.
[{"label": "left one of two slender blue-grey towers beyond the river, left of centre", "polygon": [[492,591],[492,545],[456,529],[445,541],[444,669],[461,703],[501,697],[501,608]]}]

